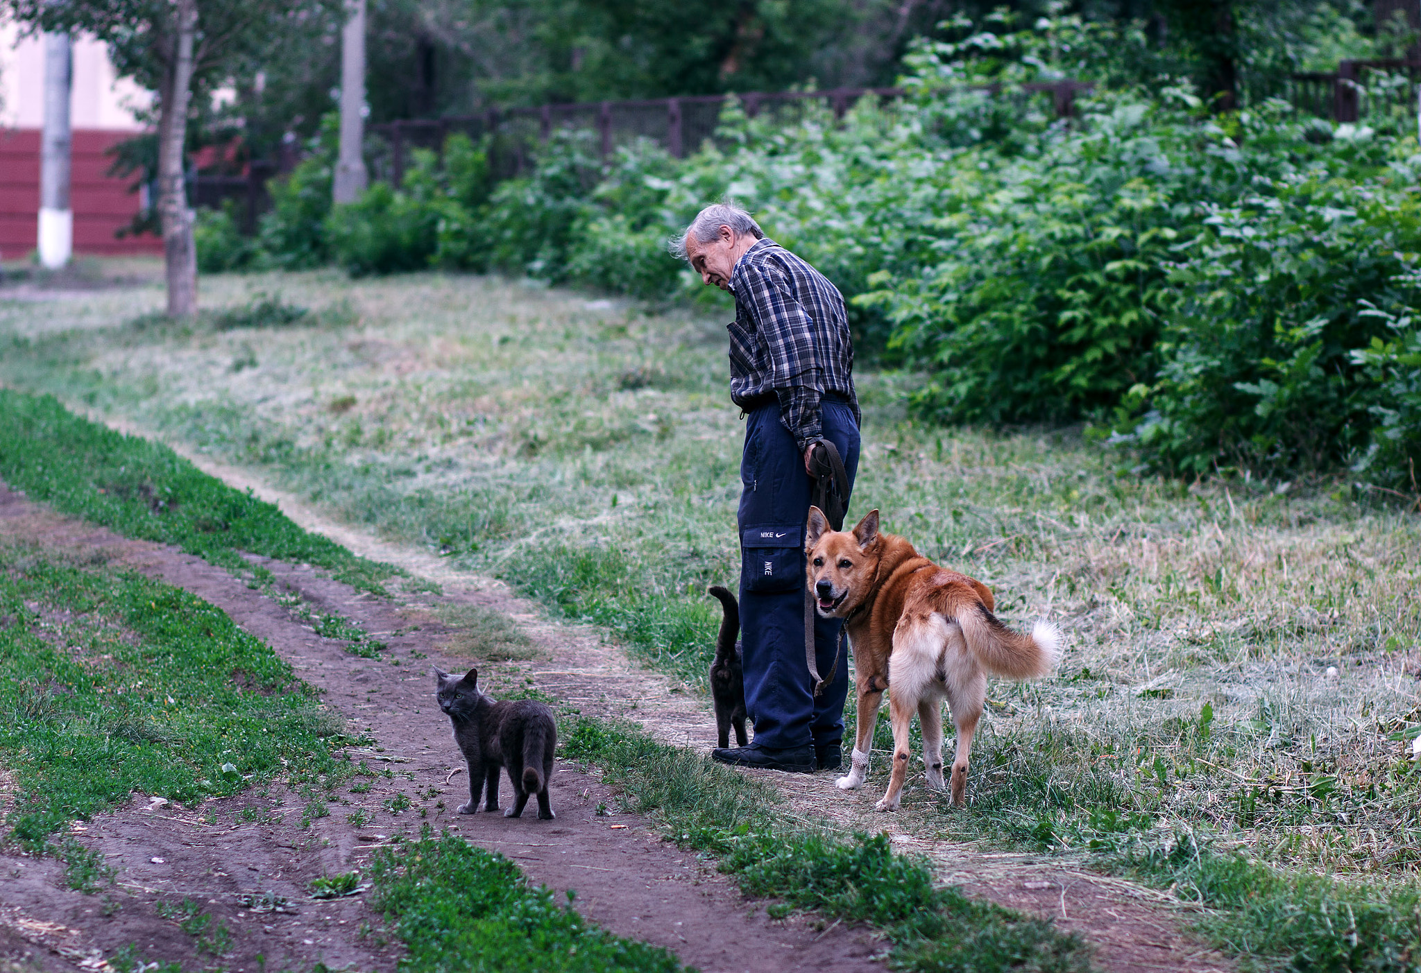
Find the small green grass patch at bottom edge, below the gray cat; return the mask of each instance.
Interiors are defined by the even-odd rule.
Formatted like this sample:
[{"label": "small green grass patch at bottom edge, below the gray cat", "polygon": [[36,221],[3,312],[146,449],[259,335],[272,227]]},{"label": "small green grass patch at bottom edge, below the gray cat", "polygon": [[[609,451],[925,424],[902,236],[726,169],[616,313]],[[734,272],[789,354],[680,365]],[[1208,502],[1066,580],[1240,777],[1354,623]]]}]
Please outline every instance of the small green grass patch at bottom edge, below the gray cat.
[{"label": "small green grass patch at bottom edge, below the gray cat", "polygon": [[371,906],[405,943],[411,973],[625,970],[675,973],[668,950],[612,936],[553,893],[530,888],[507,858],[462,838],[402,839],[371,861]]}]

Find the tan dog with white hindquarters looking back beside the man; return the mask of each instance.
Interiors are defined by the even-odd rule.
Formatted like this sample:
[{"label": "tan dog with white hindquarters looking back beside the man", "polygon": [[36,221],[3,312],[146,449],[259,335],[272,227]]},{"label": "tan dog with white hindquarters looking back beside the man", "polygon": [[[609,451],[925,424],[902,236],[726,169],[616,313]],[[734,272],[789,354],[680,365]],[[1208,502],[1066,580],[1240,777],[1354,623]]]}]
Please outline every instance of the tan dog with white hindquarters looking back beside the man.
[{"label": "tan dog with white hindquarters looking back beside the man", "polygon": [[843,618],[854,646],[858,734],[853,768],[836,784],[854,790],[864,783],[878,706],[891,680],[892,776],[878,810],[898,810],[914,712],[922,722],[928,787],[946,790],[944,699],[958,727],[952,803],[962,807],[988,673],[1010,679],[1049,673],[1057,661],[1056,626],[1037,622],[1030,636],[1013,632],[992,614],[995,602],[985,584],[939,568],[902,537],[878,533],[877,510],[868,511],[853,531],[833,531],[824,513],[810,507],[804,553],[818,614]]}]

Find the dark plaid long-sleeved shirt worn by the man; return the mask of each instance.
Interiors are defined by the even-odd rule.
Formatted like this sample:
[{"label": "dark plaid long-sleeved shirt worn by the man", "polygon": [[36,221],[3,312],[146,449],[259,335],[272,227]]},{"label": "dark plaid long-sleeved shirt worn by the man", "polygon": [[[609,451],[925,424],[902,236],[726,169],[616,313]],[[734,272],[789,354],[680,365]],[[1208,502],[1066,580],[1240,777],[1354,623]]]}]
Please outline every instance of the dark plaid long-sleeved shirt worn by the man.
[{"label": "dark plaid long-sleeved shirt worn by the man", "polygon": [[823,435],[820,399],[848,399],[854,419],[854,345],[844,297],[823,274],[764,239],[730,271],[735,321],[730,332],[730,401],[742,409],[774,393],[780,422],[800,452]]}]

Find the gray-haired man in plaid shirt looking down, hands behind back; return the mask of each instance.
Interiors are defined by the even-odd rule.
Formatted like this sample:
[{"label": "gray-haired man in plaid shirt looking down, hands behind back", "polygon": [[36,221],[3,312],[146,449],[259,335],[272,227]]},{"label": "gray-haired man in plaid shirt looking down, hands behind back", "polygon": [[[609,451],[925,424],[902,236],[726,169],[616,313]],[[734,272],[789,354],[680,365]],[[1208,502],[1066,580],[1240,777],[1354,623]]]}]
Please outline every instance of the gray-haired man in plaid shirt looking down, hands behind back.
[{"label": "gray-haired man in plaid shirt looking down, hands behind back", "polygon": [[858,467],[844,298],[735,206],[701,210],[681,251],[701,280],[735,295],[735,321],[726,325],[730,399],[747,419],[737,520],[745,700],[755,740],[712,757],[801,773],[837,768],[848,661],[836,666],[840,622],[816,614],[817,668],[830,680],[816,697],[804,661],[804,521],[814,446],[834,443],[850,484]]}]

